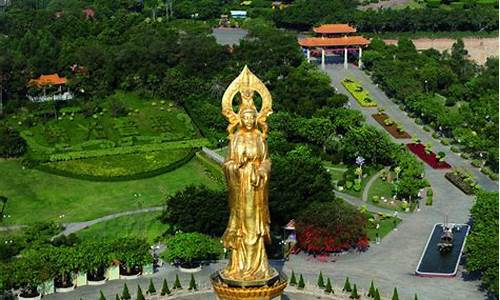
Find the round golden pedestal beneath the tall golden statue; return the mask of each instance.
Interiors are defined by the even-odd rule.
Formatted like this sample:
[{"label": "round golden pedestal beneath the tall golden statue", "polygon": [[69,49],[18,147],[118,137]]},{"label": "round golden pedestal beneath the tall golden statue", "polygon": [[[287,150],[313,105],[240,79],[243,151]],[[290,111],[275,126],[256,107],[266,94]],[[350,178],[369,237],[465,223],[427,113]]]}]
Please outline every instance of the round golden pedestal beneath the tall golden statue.
[{"label": "round golden pedestal beneath the tall golden statue", "polygon": [[218,271],[210,276],[217,298],[220,300],[271,300],[281,297],[288,279],[285,274],[262,280],[238,281],[224,278]]}]

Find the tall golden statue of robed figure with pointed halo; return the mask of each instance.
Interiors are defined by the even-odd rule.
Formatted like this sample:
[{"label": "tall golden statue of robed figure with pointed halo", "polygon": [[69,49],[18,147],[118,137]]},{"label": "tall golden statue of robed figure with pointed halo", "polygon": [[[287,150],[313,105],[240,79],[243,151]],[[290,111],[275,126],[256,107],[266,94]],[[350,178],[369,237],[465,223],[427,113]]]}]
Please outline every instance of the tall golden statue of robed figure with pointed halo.
[{"label": "tall golden statue of robed figure with pointed halo", "polygon": [[[262,99],[260,111],[253,101],[254,92]],[[233,99],[237,93],[240,101],[236,113]],[[271,104],[271,94],[246,66],[222,98],[222,113],[229,121],[224,174],[230,210],[223,242],[231,255],[221,276],[234,282],[266,281],[277,276],[268,264],[265,249],[271,239],[267,203],[271,161],[266,143]]]}]

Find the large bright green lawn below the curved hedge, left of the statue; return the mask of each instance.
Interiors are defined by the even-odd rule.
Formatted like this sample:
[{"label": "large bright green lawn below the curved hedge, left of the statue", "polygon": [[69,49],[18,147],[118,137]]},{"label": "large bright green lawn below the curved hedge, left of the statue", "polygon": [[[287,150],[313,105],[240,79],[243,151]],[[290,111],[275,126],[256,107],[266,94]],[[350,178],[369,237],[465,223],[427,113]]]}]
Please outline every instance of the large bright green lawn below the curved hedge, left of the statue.
[{"label": "large bright green lawn below the curved hedge, left of the statue", "polygon": [[[4,224],[32,224],[41,220],[91,220],[120,211],[163,204],[167,195],[190,184],[220,188],[209,171],[193,159],[156,177],[125,182],[92,182],[25,169],[17,160],[0,161],[0,195],[9,198]],[[135,197],[134,194],[140,195]]]}]

